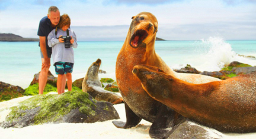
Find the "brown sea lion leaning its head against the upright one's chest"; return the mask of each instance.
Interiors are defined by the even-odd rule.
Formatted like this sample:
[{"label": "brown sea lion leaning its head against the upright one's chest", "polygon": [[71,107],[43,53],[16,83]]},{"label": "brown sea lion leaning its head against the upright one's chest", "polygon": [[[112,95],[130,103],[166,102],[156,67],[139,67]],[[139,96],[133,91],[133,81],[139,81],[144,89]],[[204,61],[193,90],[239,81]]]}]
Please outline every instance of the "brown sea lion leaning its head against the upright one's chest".
[{"label": "brown sea lion leaning its head against the upright one's chest", "polygon": [[205,84],[143,65],[133,74],[152,98],[190,120],[225,133],[256,132],[256,72]]}]

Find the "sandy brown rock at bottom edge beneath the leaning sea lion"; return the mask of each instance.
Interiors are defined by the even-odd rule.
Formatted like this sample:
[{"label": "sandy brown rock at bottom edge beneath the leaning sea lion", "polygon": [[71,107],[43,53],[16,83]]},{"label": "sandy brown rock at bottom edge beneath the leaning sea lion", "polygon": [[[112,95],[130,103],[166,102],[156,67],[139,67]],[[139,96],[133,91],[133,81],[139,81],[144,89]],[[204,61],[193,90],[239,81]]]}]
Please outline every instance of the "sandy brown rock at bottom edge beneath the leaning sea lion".
[{"label": "sandy brown rock at bottom edge beneath the leaning sea lion", "polygon": [[222,138],[222,133],[217,130],[203,127],[199,124],[193,123],[189,120],[185,120],[181,123],[168,139],[205,139],[205,138]]}]

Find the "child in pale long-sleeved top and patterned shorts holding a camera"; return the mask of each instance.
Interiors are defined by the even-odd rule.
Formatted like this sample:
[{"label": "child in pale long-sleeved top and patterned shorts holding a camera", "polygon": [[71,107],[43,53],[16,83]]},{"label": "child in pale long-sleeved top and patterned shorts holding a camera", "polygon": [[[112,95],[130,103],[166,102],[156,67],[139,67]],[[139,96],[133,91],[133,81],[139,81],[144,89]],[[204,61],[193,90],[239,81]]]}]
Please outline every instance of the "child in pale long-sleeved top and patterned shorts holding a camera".
[{"label": "child in pale long-sleeved top and patterned shorts holding a camera", "polygon": [[[68,91],[72,90],[72,71],[74,64],[73,48],[77,48],[75,32],[70,29],[71,19],[67,14],[60,16],[60,22],[56,29],[48,35],[48,45],[52,47],[53,63],[57,77],[57,92],[62,94],[65,91],[66,80],[68,79]],[[57,37],[58,36],[58,37]],[[63,37],[69,38],[65,41]],[[68,43],[67,43],[68,42]],[[70,42],[70,44],[69,44]]]}]

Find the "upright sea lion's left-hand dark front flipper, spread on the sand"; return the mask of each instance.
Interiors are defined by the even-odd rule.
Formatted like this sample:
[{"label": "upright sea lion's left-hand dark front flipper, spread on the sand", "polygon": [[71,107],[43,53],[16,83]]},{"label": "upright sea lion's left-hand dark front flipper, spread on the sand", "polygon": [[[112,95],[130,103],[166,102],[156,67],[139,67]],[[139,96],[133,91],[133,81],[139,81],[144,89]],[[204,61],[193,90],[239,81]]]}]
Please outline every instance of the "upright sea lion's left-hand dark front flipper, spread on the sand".
[{"label": "upright sea lion's left-hand dark front flipper, spread on the sand", "polygon": [[126,110],[126,123],[122,121],[112,121],[112,123],[117,128],[131,128],[135,127],[140,123],[142,118],[138,117],[135,112],[133,112],[130,107],[124,102],[125,110]]}]

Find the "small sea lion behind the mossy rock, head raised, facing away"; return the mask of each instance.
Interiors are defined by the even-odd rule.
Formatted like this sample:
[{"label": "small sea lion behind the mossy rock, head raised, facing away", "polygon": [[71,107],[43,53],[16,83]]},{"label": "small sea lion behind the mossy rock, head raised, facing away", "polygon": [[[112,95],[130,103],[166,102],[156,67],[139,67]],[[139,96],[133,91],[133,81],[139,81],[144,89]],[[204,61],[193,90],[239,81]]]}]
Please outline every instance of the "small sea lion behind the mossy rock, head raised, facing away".
[{"label": "small sea lion behind the mossy rock, head raised, facing away", "polygon": [[88,68],[84,81],[82,82],[82,91],[88,92],[95,100],[108,101],[112,104],[123,102],[123,98],[115,92],[104,90],[98,78],[98,69],[100,68],[101,59],[93,62]]}]

